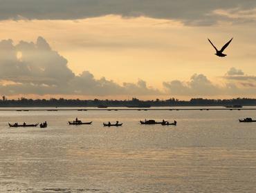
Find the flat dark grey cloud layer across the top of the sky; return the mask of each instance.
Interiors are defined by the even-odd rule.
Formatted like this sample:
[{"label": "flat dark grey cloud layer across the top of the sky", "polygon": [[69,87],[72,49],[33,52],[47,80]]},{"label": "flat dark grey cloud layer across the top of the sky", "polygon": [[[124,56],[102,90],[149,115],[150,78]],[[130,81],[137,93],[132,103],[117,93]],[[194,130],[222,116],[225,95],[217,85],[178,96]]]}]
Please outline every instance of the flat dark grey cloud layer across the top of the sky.
[{"label": "flat dark grey cloud layer across the top of the sky", "polygon": [[236,15],[244,15],[244,21],[251,21],[256,8],[255,1],[240,0],[0,0],[0,4],[1,20],[86,19],[118,14],[122,17],[176,19],[201,26],[225,19],[236,21]]}]

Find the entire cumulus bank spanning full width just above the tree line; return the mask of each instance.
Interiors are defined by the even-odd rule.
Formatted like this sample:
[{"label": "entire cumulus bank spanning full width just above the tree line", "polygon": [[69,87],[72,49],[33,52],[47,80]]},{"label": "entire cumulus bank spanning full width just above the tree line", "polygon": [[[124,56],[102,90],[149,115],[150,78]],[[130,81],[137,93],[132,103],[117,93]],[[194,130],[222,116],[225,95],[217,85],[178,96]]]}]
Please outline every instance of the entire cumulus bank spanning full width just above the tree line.
[{"label": "entire cumulus bank spanning full width just above the tree line", "polygon": [[221,77],[222,85],[204,74],[193,74],[189,81],[165,81],[164,91],[149,87],[143,80],[122,85],[105,77],[95,79],[89,71],[75,75],[68,61],[43,37],[37,41],[0,41],[0,93],[5,95],[71,96],[234,96],[256,94],[256,77],[230,68]]}]

